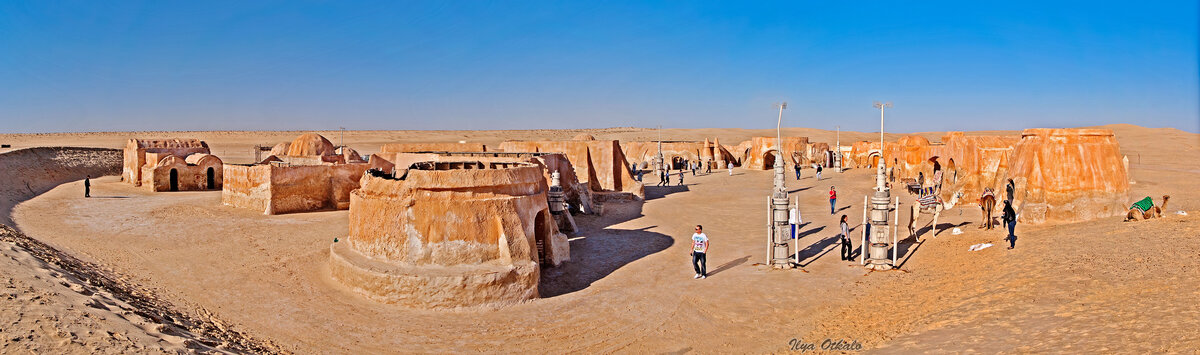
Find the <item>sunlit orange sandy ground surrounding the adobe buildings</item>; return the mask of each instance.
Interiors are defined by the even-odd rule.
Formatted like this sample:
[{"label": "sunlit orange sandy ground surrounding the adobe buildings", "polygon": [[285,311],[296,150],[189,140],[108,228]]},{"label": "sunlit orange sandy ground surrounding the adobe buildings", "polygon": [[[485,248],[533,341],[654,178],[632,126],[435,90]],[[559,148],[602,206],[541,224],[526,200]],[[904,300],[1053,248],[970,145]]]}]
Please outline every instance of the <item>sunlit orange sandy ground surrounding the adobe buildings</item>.
[{"label": "sunlit orange sandy ground surrounding the adobe buildings", "polygon": [[[827,179],[815,181],[806,170],[798,182],[788,179],[788,187],[809,222],[800,239],[809,272],[773,271],[755,265],[764,258],[770,174],[736,169],[728,176],[720,170],[688,175],[683,187],[649,186],[644,204],[606,205],[602,218],[581,216],[572,260],[544,270],[542,299],[500,309],[404,309],[341,288],[329,278],[325,261],[329,243],[346,234],[344,211],[263,216],[220,205],[218,192],[148,193],[104,178],[95,182],[97,198],[82,199],[79,182],[65,183],[18,205],[13,219],[26,234],[112,267],[184,309],[211,313],[296,353],[786,353],[792,344],[820,349],[827,338],[888,353],[1194,351],[1200,349],[1200,275],[1190,266],[1200,248],[1186,237],[1200,235],[1200,134],[1111,128],[1134,163],[1133,195],[1157,200],[1171,194],[1172,215],[1136,223],[1106,218],[1022,225],[1014,251],[967,252],[977,242],[998,245],[1003,234],[976,229],[978,207],[964,206],[941,222],[965,234],[934,239],[925,228],[919,231],[926,236],[923,243],[901,246],[907,272],[868,273],[839,260],[836,219],[824,197],[836,185],[839,213],[858,224],[870,172],[827,172]],[[766,134],[664,133],[665,139],[702,139],[725,131],[734,132],[721,136],[725,144],[739,142],[733,134]],[[546,132],[556,138],[580,131]],[[517,133],[348,132],[347,142],[370,152],[372,139],[484,142],[492,134],[486,139],[498,142],[545,132]],[[620,139],[656,134],[637,128],[589,133]],[[252,146],[262,137],[194,134],[214,134],[204,138],[217,154]],[[278,139],[264,143],[295,136],[270,134]],[[844,142],[870,136],[842,132]],[[47,142],[72,139],[30,137],[0,140],[53,145]],[[120,146],[131,133],[84,137],[73,145]],[[336,134],[328,137],[336,143]],[[1192,216],[1176,216],[1176,210]],[[708,279],[691,278],[686,239],[694,224],[704,224],[713,239]]]}]

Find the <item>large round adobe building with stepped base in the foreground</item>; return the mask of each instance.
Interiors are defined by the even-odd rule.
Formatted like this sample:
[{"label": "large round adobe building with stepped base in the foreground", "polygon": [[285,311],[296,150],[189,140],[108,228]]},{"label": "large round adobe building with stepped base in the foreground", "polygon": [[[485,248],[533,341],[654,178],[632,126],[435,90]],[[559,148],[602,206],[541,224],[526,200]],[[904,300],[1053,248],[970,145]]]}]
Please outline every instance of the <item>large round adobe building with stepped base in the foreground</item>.
[{"label": "large round adobe building with stepped base in the foreground", "polygon": [[538,296],[539,240],[546,258],[569,257],[536,166],[412,169],[404,180],[367,174],[361,183],[350,197],[349,235],[330,246],[330,270],[373,300],[516,303]]}]

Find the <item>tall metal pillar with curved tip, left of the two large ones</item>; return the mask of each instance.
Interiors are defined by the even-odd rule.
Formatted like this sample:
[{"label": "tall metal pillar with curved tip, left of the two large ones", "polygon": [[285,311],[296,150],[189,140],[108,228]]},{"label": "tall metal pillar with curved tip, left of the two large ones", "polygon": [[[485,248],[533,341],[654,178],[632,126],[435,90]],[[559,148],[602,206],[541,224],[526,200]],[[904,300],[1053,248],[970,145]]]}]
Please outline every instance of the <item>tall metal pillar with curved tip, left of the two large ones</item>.
[{"label": "tall metal pillar with curved tip, left of the two large ones", "polygon": [[784,138],[782,138],[782,124],[784,124],[784,109],[787,108],[787,103],[780,103],[779,107],[779,120],[775,124],[775,188],[773,189],[769,204],[769,245],[768,249],[769,261],[772,267],[786,269],[793,267],[792,260],[790,259],[791,252],[787,241],[792,234],[790,225],[787,224],[787,186],[784,179]]}]

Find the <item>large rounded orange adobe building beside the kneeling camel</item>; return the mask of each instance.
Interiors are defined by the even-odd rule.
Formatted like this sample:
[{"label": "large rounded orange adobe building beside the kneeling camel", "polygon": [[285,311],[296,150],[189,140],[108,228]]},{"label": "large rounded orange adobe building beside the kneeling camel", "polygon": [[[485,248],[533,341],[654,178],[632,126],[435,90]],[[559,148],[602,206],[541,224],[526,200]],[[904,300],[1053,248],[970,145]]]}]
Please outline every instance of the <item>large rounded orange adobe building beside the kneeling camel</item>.
[{"label": "large rounded orange adobe building beside the kneeling camel", "polygon": [[1008,178],[1018,183],[1022,223],[1122,216],[1129,174],[1111,130],[1031,128],[1013,149]]}]

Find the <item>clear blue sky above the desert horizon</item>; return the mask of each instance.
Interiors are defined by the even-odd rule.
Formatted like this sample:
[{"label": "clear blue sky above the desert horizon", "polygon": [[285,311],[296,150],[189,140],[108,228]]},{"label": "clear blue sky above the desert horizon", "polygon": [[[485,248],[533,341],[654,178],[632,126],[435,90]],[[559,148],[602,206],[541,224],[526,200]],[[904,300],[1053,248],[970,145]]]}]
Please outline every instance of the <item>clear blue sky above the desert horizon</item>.
[{"label": "clear blue sky above the desert horizon", "polygon": [[0,132],[1200,131],[1196,1],[977,2],[4,1]]}]

